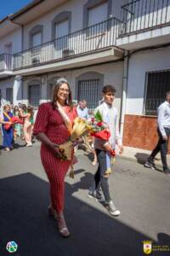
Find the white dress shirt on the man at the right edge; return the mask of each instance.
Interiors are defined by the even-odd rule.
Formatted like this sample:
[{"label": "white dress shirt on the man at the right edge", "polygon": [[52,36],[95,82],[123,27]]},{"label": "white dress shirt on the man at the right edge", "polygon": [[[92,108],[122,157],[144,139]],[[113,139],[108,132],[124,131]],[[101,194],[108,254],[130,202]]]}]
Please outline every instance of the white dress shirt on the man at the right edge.
[{"label": "white dress shirt on the man at the right edge", "polygon": [[159,130],[161,131],[161,135],[166,136],[166,132],[164,128],[170,129],[170,103],[163,102],[157,108],[157,125]]}]

